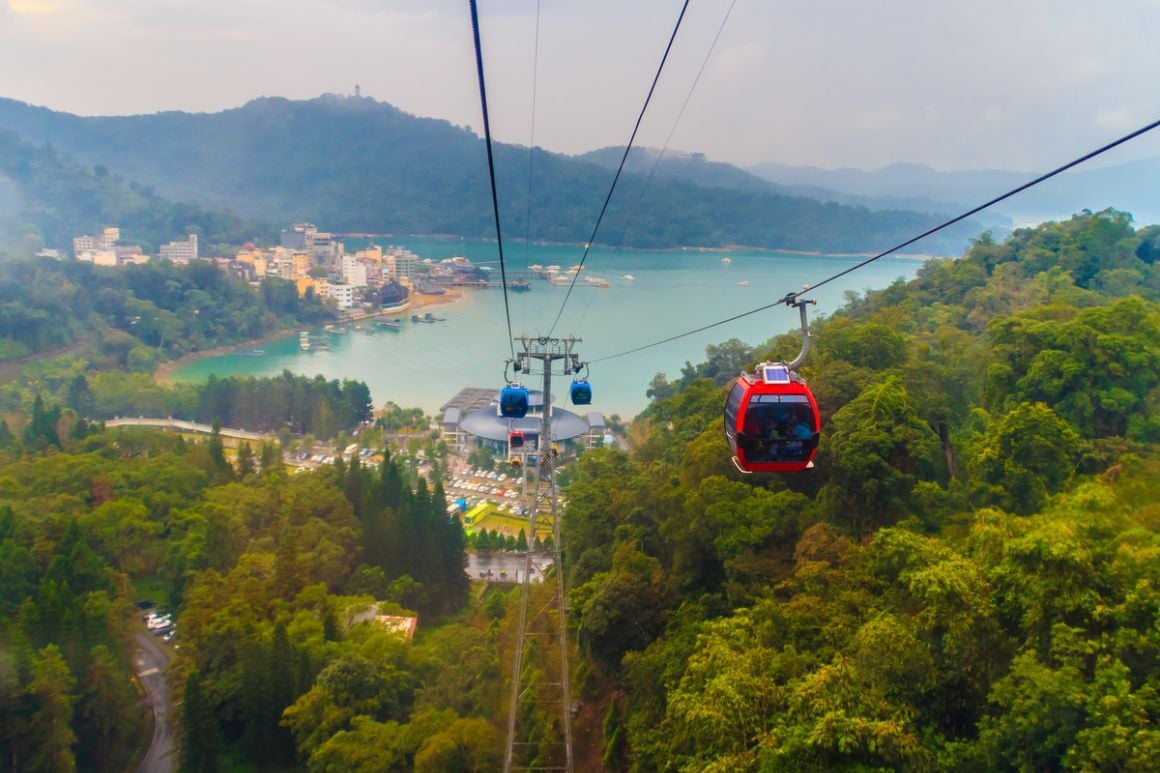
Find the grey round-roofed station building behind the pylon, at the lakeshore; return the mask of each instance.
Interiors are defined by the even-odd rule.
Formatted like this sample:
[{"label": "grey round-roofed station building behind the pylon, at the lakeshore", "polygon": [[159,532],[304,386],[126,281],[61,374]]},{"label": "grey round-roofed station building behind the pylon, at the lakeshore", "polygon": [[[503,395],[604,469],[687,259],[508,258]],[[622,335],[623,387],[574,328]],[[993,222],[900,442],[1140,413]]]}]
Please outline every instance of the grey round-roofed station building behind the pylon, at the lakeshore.
[{"label": "grey round-roofed station building behind the pylon, at the lakeshore", "polygon": [[[448,446],[456,450],[483,447],[495,454],[508,454],[509,439],[515,431],[522,432],[524,448],[541,450],[546,443],[539,442],[544,421],[544,393],[528,390],[528,414],[521,419],[500,416],[500,393],[495,389],[469,388],[443,405],[442,431]],[[585,448],[596,448],[604,441],[608,426],[604,414],[587,411],[583,416],[557,407],[549,400],[548,411],[552,427],[552,442],[560,448],[577,443]]]}]

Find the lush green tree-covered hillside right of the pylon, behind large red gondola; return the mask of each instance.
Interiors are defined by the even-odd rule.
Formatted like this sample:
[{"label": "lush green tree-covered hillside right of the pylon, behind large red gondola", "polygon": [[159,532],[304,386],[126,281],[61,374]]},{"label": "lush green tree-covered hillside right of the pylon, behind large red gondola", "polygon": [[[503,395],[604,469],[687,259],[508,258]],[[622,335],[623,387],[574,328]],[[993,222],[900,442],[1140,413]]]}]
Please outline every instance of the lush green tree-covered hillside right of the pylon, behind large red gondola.
[{"label": "lush green tree-covered hillside right of the pylon, behind large red gondola", "polygon": [[1160,245],[979,240],[813,325],[817,469],[741,476],[724,384],[653,382],[564,548],[608,770],[1146,770],[1160,754]]}]

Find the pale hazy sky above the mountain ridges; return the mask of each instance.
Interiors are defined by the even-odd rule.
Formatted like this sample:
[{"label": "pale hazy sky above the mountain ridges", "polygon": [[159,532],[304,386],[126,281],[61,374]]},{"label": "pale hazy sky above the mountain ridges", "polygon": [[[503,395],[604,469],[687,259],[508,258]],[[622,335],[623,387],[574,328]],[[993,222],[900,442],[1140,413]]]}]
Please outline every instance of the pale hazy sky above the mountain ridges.
[{"label": "pale hazy sky above the mountain ridges", "polygon": [[[493,131],[527,144],[536,0],[479,5]],[[536,144],[623,145],[680,6],[542,0]],[[638,144],[664,144],[728,7],[691,1]],[[1158,31],[1160,0],[737,0],[672,147],[1042,169],[1160,118]],[[466,0],[0,0],[0,96],[216,111],[355,84],[478,130]]]}]

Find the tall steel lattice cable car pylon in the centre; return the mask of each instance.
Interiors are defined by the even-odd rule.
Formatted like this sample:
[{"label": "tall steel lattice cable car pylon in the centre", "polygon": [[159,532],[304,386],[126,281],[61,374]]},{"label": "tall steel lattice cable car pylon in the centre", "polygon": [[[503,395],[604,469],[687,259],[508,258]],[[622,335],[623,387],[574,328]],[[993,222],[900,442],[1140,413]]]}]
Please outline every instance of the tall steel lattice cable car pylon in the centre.
[{"label": "tall steel lattice cable car pylon in the centre", "polygon": [[[580,359],[573,353],[573,347],[580,344],[579,338],[528,338],[521,335],[515,341],[522,347],[516,353],[515,371],[530,376],[542,375],[544,378],[543,391],[543,416],[539,431],[539,463],[536,464],[535,498],[528,510],[529,546],[524,554],[524,583],[520,588],[520,623],[519,635],[515,643],[515,655],[513,658],[512,694],[508,705],[508,734],[507,752],[503,757],[503,771],[510,773],[519,770],[525,763],[527,756],[516,759],[516,749],[532,746],[525,741],[520,741],[519,715],[520,707],[524,702],[529,703],[558,703],[560,709],[560,732],[563,736],[559,745],[563,745],[563,759],[559,754],[553,754],[556,759],[549,761],[541,757],[536,770],[560,770],[572,773],[572,698],[568,684],[568,641],[566,624],[567,597],[564,587],[564,566],[560,557],[560,510],[556,487],[556,457],[552,454],[552,367],[553,363],[563,362],[561,376],[579,373],[581,368]],[[537,373],[538,370],[538,373]],[[527,441],[525,441],[527,442]],[[525,457],[527,458],[527,457]],[[524,465],[524,476],[531,474]],[[546,489],[543,484],[546,483]],[[530,620],[528,617],[528,595],[531,588],[531,546],[536,541],[536,515],[545,504],[550,508],[552,518],[552,549],[553,549],[553,575],[556,579],[554,595],[552,601],[541,609]],[[543,631],[532,631],[539,621],[548,622],[554,612],[556,616],[556,640],[558,648],[552,648],[550,643],[550,628]],[[537,651],[538,648],[538,651]],[[556,649],[554,657],[552,650]],[[525,653],[525,650],[528,652]],[[541,681],[538,684],[527,684],[523,678],[524,656],[538,655],[543,658],[543,673],[554,674],[557,681]],[[551,678],[550,676],[548,678]],[[524,734],[524,737],[527,734]],[[538,744],[543,746],[543,744]],[[538,757],[538,754],[532,754]],[[554,763],[556,765],[552,765]]]}]

